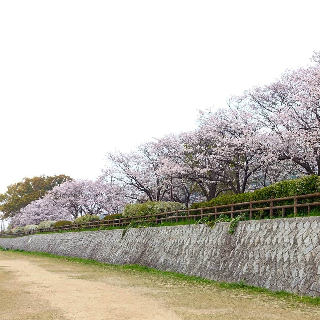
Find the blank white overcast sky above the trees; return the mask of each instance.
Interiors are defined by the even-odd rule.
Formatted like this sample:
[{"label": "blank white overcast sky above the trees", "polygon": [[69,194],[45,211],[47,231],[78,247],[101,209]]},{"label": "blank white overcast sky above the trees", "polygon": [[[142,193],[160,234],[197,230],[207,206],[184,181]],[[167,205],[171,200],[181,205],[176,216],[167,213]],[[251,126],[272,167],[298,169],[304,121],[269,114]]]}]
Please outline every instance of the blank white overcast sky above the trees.
[{"label": "blank white overcast sky above the trees", "polygon": [[192,130],[197,109],[320,50],[316,1],[1,1],[0,192],[94,179],[105,154]]}]

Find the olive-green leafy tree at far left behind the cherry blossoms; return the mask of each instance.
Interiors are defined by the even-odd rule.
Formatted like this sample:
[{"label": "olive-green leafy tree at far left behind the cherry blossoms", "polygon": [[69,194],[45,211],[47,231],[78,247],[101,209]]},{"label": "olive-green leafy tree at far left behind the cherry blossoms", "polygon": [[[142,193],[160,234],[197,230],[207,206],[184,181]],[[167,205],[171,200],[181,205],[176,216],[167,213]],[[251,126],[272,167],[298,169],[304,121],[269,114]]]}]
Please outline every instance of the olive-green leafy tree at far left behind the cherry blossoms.
[{"label": "olive-green leafy tree at far left behind the cherry blossoms", "polygon": [[31,201],[43,198],[49,190],[66,180],[72,179],[64,174],[24,178],[22,181],[8,186],[8,190],[4,194],[0,194],[0,199],[3,200],[0,211],[4,213],[4,218],[13,217]]}]

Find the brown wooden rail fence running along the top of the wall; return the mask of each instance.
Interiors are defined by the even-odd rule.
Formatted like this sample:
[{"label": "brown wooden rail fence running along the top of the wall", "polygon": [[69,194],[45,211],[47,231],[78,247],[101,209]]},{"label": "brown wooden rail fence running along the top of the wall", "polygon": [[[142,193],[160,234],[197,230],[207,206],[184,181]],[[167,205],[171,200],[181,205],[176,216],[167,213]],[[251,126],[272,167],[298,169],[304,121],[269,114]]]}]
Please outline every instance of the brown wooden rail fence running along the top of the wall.
[{"label": "brown wooden rail fence running along the top of the wall", "polygon": [[[61,226],[61,227],[35,229],[35,230],[29,230],[29,231],[20,232],[20,233],[3,234],[0,236],[1,237],[8,237],[8,236],[20,237],[20,236],[28,236],[32,234],[47,233],[47,232],[90,230],[93,228],[101,228],[101,227],[124,228],[133,222],[137,222],[137,223],[155,222],[156,225],[164,221],[179,222],[179,221],[187,220],[189,222],[190,220],[193,220],[193,222],[196,222],[198,218],[201,219],[204,217],[212,217],[215,220],[221,214],[230,215],[231,218],[234,218],[235,214],[241,214],[246,212],[249,212],[249,220],[252,220],[252,216],[254,212],[260,212],[259,218],[262,219],[262,212],[265,212],[265,211],[269,212],[270,219],[272,219],[274,217],[274,212],[276,210],[281,210],[282,211],[281,216],[282,218],[284,218],[286,209],[293,209],[293,216],[297,216],[299,208],[307,208],[307,214],[309,214],[312,206],[313,207],[320,206],[320,201],[308,202],[309,200],[316,197],[320,197],[320,193],[312,193],[312,194],[302,195],[302,196],[298,196],[297,194],[295,194],[294,196],[283,197],[283,198],[271,197],[270,199],[265,199],[265,200],[256,200],[256,201],[250,200],[249,202],[242,202],[242,203],[232,202],[231,204],[215,205],[213,207],[176,210],[176,211],[164,212],[164,213],[158,213],[158,214],[148,214],[145,216],[120,218],[120,219],[114,219],[114,220],[99,220],[99,221],[84,222],[84,223],[73,223],[73,224]],[[306,200],[307,202],[298,203],[300,199]],[[293,200],[293,204],[275,205],[276,202],[290,201],[290,200]],[[268,206],[260,207],[261,204],[268,204]],[[246,207],[246,208],[236,209],[239,207]],[[223,211],[224,209],[227,209],[227,210]],[[191,214],[191,212],[194,214]]]}]

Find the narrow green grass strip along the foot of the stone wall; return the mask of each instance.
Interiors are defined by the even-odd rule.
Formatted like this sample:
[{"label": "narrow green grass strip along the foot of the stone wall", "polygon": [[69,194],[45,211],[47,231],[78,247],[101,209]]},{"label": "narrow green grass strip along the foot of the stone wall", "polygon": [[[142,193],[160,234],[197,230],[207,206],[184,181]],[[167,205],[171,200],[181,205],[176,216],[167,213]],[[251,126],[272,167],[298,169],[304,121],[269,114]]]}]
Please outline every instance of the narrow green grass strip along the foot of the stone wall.
[{"label": "narrow green grass strip along the foot of the stone wall", "polygon": [[[4,251],[4,248],[0,247],[0,251]],[[97,260],[92,260],[92,259],[59,256],[59,255],[55,255],[47,252],[37,252],[37,251],[31,252],[31,251],[24,251],[21,249],[7,250],[7,252],[19,252],[26,255],[60,259],[60,260],[65,260],[72,263],[81,263],[83,265],[99,267],[99,268],[112,267],[119,270],[130,270],[130,271],[140,272],[142,275],[150,274],[153,276],[171,277],[175,280],[180,280],[180,281],[193,282],[193,283],[204,284],[204,285],[214,285],[215,287],[220,289],[228,289],[228,290],[237,289],[237,290],[241,290],[251,294],[259,294],[259,293],[264,294],[269,296],[270,298],[291,300],[291,302],[294,302],[294,303],[304,303],[312,306],[320,306],[320,297],[299,296],[297,294],[293,294],[285,291],[271,291],[266,288],[247,285],[245,284],[244,281],[239,281],[238,283],[218,282],[218,281],[209,280],[209,279],[205,279],[197,276],[187,276],[182,273],[177,273],[172,271],[161,271],[155,268],[140,266],[138,264],[115,265],[115,264],[99,262]]]}]

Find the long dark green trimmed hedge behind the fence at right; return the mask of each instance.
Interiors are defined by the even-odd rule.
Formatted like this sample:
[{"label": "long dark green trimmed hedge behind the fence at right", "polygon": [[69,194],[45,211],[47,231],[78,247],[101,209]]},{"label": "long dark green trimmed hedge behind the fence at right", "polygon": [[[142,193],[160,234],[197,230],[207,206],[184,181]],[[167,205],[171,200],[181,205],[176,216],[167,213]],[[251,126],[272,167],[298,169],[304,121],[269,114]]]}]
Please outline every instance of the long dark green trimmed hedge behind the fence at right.
[{"label": "long dark green trimmed hedge behind the fence at right", "polygon": [[[234,203],[241,203],[241,202],[248,202],[250,199],[253,201],[257,200],[265,200],[270,199],[271,196],[274,198],[282,198],[287,196],[294,196],[295,193],[298,195],[307,195],[310,193],[317,193],[320,192],[320,177],[316,175],[306,176],[300,179],[292,179],[292,180],[284,180],[281,182],[274,183],[268,187],[261,188],[255,190],[253,192],[246,192],[241,194],[234,194],[234,195],[223,195],[218,198],[214,198],[210,201],[203,201],[198,202],[191,205],[191,209],[196,208],[205,208],[205,207],[213,207],[217,205],[224,205],[224,204],[231,204]],[[311,201],[309,200],[299,200],[299,203],[302,202],[313,202],[319,201],[316,200],[317,198],[313,198]],[[286,204],[293,204],[292,200],[288,201],[281,201],[276,202],[276,205],[286,205]],[[259,207],[263,205],[255,205],[253,207]],[[247,208],[247,207],[246,207]],[[241,207],[237,207],[237,209],[242,209]],[[300,209],[302,211],[306,209]],[[222,210],[223,211],[223,210]],[[286,210],[287,214],[291,214],[292,210]]]}]

